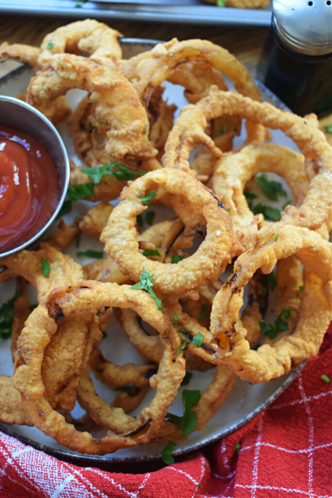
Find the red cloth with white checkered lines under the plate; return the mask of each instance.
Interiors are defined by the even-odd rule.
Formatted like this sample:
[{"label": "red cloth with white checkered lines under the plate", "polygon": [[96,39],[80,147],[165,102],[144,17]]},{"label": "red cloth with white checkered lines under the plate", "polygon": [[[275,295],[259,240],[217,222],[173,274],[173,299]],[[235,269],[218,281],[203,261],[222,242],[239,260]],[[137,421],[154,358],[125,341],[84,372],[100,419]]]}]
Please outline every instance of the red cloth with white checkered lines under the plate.
[{"label": "red cloth with white checkered lines under the plate", "polygon": [[322,374],[332,379],[331,324],[319,355],[268,408],[147,474],[76,467],[0,433],[0,498],[331,498],[332,382]]}]

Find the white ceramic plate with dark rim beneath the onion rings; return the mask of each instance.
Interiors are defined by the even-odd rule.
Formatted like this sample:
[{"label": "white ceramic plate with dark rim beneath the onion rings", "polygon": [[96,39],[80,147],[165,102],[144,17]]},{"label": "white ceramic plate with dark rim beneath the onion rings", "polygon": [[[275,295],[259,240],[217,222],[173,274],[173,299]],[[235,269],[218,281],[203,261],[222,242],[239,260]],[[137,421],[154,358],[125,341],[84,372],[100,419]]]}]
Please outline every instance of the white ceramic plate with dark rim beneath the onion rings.
[{"label": "white ceramic plate with dark rim beneath the onion rings", "polygon": [[[133,39],[123,39],[121,40],[124,57],[130,57],[136,55],[137,53],[148,50],[153,46],[149,40],[133,40]],[[21,66],[18,69],[10,72],[8,75],[0,79],[0,94],[16,96],[18,93],[24,91],[28,85],[29,79],[32,75],[30,68],[26,66]],[[262,100],[268,101],[274,104],[276,107],[286,109],[286,107],[265,87],[258,84],[261,91]],[[186,101],[183,97],[182,87],[175,85],[167,85],[166,95],[169,98],[169,102],[174,102],[181,108]],[[68,100],[71,105],[75,106],[78,101],[82,98],[81,91],[71,91],[68,94]],[[79,159],[75,155],[73,144],[68,134],[68,128],[66,125],[59,126],[59,131],[65,141],[66,147],[68,149],[69,155],[72,156],[76,163],[79,163]],[[279,131],[272,130],[273,141],[280,143],[282,145],[295,148],[293,142],[288,139],[283,133]],[[236,137],[234,145],[237,146],[243,141],[243,136]],[[83,165],[83,164],[82,164]],[[273,176],[273,175],[271,175]],[[280,181],[280,178],[279,178]],[[287,199],[291,199],[290,190],[287,185],[283,184],[285,190],[287,191]],[[282,199],[281,204],[285,202],[286,198]],[[259,199],[257,199],[257,202]],[[262,199],[262,202],[266,203],[266,198]],[[116,201],[114,201],[116,203]],[[79,201],[75,203],[75,207],[71,213],[65,216],[66,223],[71,222],[76,216],[82,216],[87,207],[91,207],[91,203],[85,201]],[[279,206],[280,207],[280,206]],[[166,219],[167,213],[165,210],[159,210],[156,216],[156,222],[161,219]],[[56,225],[52,230],[55,230]],[[88,237],[82,237],[80,249],[77,249],[73,243],[67,253],[71,254],[76,260],[81,264],[90,262],[91,260],[87,258],[77,258],[76,252],[78,250],[84,251],[86,249],[102,250],[103,246],[99,241],[95,239],[89,239]],[[14,282],[9,282],[8,284],[1,285],[0,287],[0,302],[4,302],[8,299],[8,296],[14,294]],[[31,303],[35,302],[34,292],[31,291]],[[265,320],[271,320],[274,304],[274,295],[271,295],[270,306],[268,314]],[[120,326],[117,324],[115,319],[111,319],[109,332],[107,338],[102,342],[102,349],[105,356],[117,364],[124,364],[127,362],[137,362],[143,363],[143,360],[137,354],[134,347],[131,345],[127,337],[123,332],[121,332]],[[12,362],[10,355],[10,340],[0,340],[0,374],[11,375],[12,374]],[[180,455],[182,453],[187,453],[188,451],[200,448],[208,443],[216,441],[221,437],[234,431],[245,422],[254,417],[257,413],[268,406],[293,380],[296,374],[300,371],[301,366],[294,372],[284,375],[283,377],[272,380],[265,384],[251,385],[249,382],[244,382],[237,379],[233,389],[231,390],[226,401],[222,405],[219,412],[210,420],[207,427],[205,427],[200,432],[192,433],[187,441],[178,442],[176,450],[173,455]],[[205,373],[193,372],[193,377],[190,383],[185,387],[186,389],[201,389],[204,390],[208,385],[209,381],[212,379],[213,370]],[[95,385],[98,393],[111,402],[110,390],[106,388],[101,382],[95,379]],[[172,413],[181,414],[182,413],[182,402],[181,402],[181,391],[176,397],[175,401],[172,403],[169,411]],[[115,397],[115,395],[114,395]],[[152,390],[151,390],[152,397]],[[144,405],[149,402],[150,398],[144,400]],[[140,412],[141,407],[133,412],[133,415],[137,415]],[[74,416],[80,416],[83,410],[77,406],[72,412]],[[93,455],[81,455],[77,452],[73,452],[59,445],[53,439],[45,436],[41,431],[35,427],[25,427],[25,426],[0,426],[1,430],[13,435],[25,443],[28,443],[35,448],[41,449],[48,453],[51,453],[59,458],[70,460],[74,463],[81,465],[101,465],[105,462],[142,462],[149,460],[156,460],[160,458],[160,451],[164,448],[165,443],[151,443],[142,447],[133,447],[128,449],[118,450],[115,454],[109,454],[105,456],[93,456]]]}]

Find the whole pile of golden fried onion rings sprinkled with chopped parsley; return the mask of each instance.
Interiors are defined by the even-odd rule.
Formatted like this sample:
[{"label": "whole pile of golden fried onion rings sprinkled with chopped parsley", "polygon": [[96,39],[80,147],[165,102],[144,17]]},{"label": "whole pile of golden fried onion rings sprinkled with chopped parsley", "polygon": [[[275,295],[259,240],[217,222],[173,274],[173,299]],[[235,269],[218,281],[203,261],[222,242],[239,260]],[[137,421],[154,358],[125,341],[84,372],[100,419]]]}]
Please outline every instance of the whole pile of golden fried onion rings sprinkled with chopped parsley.
[{"label": "whole pile of golden fried onion rings sprinkled with chopped parsley", "polygon": [[[72,162],[67,206],[94,203],[38,249],[0,259],[1,284],[16,280],[0,310],[14,363],[0,375],[0,421],[100,455],[187,438],[222,410],[237,377],[267,382],[295,369],[317,354],[332,301],[331,147],[316,117],[261,102],[248,71],[209,41],[174,39],[123,60],[119,37],[86,19],[39,48],[0,46],[0,59],[35,71],[21,98],[54,123],[71,114],[82,165]],[[175,123],[165,82],[189,102]],[[72,89],[88,95],[71,113]],[[267,143],[268,128],[300,152]],[[263,205],[263,195],[287,202]],[[107,257],[77,250],[78,261],[92,258],[79,264],[66,250],[80,237],[99,239]],[[103,336],[115,341],[115,321],[137,363],[125,351],[111,361]],[[211,372],[202,392],[195,372]],[[192,374],[192,390],[180,389]]]}]

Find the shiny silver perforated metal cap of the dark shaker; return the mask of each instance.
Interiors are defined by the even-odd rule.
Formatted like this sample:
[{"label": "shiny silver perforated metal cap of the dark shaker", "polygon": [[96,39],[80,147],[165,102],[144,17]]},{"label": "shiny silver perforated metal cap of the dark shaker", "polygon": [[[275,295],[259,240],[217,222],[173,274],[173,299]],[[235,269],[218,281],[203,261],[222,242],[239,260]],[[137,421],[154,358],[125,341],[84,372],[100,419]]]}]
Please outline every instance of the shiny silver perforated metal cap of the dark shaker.
[{"label": "shiny silver perforated metal cap of the dark shaker", "polygon": [[296,52],[332,52],[332,0],[273,0],[273,24],[281,40]]}]

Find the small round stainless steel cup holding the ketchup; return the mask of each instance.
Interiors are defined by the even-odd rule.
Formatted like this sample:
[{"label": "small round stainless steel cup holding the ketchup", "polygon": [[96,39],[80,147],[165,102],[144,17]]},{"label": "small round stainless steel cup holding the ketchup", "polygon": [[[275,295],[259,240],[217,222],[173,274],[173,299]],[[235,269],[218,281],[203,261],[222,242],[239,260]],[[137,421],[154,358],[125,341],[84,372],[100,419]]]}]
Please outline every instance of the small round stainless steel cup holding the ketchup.
[{"label": "small round stainless steel cup holding the ketchup", "polygon": [[54,159],[59,175],[59,194],[57,208],[47,223],[33,237],[19,246],[0,252],[0,257],[29,246],[36,241],[57,217],[65,200],[69,183],[69,159],[62,138],[53,124],[34,107],[25,102],[0,95],[0,126],[9,126],[24,131],[39,140]]}]

